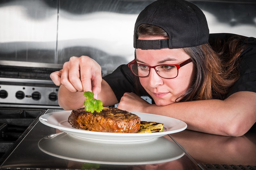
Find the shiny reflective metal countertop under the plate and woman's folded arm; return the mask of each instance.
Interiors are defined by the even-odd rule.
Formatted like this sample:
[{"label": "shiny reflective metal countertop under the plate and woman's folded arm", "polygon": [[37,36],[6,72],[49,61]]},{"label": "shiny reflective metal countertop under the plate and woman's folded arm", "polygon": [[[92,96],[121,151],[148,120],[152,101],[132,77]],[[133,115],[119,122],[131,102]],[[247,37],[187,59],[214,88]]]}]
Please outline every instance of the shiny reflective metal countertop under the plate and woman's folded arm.
[{"label": "shiny reflective metal countertop under the plate and woman's folded arm", "polygon": [[[63,111],[47,110],[45,114]],[[74,137],[41,122],[1,169],[256,169],[256,133],[227,137],[184,130],[137,143]]]}]

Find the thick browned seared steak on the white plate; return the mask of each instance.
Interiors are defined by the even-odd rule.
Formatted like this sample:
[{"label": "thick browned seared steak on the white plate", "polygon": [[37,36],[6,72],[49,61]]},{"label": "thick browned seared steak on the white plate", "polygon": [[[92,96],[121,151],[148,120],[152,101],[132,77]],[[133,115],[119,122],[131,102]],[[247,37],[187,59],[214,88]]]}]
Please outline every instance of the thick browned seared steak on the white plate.
[{"label": "thick browned seared steak on the white plate", "polygon": [[72,110],[68,123],[77,129],[113,133],[137,133],[140,130],[140,117],[117,108],[103,107],[94,113],[84,108]]}]

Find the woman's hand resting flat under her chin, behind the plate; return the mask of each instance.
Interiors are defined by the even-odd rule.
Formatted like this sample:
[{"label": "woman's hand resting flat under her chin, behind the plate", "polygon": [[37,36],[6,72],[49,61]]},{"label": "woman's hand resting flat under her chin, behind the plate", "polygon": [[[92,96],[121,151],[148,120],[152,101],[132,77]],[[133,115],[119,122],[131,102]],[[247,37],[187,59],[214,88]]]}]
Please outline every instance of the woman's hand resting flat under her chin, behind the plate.
[{"label": "woman's hand resting flat under her chin, behind the plate", "polygon": [[127,111],[144,112],[148,105],[151,105],[140,96],[134,93],[124,93],[117,108]]}]

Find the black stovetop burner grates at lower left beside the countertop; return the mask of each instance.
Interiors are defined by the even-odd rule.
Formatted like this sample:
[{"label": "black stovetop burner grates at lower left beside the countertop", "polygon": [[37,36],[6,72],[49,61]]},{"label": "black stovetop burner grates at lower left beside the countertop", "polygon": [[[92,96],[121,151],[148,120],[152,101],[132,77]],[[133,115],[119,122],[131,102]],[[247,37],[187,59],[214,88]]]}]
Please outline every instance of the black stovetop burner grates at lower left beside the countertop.
[{"label": "black stovetop burner grates at lower left beside the countertop", "polygon": [[45,111],[44,109],[0,108],[0,165]]}]

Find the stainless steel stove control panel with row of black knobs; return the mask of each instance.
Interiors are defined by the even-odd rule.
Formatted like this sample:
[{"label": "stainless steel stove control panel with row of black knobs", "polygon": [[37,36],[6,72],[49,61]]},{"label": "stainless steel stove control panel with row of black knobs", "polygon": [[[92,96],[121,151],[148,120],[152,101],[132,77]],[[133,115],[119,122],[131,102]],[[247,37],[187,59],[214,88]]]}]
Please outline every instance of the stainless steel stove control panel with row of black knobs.
[{"label": "stainless steel stove control panel with row of black knobs", "polygon": [[0,76],[0,107],[61,109],[59,87],[51,80]]}]

